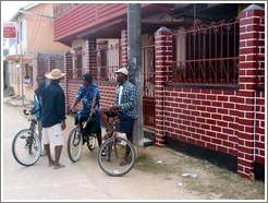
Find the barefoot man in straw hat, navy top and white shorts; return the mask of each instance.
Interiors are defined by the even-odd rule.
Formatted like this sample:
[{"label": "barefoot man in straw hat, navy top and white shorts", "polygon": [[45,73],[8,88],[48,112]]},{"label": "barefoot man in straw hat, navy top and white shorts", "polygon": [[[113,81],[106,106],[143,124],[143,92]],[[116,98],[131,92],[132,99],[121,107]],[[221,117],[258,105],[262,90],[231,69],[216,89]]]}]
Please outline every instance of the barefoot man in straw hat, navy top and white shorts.
[{"label": "barefoot man in straw hat, navy top and white shorts", "polygon": [[[63,145],[62,131],[65,129],[65,96],[59,85],[60,80],[65,76],[59,69],[53,69],[45,75],[50,83],[41,92],[41,126],[42,143],[48,156],[49,166],[54,169],[62,168],[60,156]],[[50,144],[54,145],[54,160],[51,158]]]}]

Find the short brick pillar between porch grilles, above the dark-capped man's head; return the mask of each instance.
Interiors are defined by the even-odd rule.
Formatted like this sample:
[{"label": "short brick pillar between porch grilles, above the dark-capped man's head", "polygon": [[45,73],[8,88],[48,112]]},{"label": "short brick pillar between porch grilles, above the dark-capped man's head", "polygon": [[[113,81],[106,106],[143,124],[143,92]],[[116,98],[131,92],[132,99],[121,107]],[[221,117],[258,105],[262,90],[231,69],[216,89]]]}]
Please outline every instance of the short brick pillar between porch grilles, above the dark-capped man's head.
[{"label": "short brick pillar between porch grilles, above the dark-capped man's head", "polygon": [[88,69],[94,80],[98,79],[96,39],[88,39]]}]

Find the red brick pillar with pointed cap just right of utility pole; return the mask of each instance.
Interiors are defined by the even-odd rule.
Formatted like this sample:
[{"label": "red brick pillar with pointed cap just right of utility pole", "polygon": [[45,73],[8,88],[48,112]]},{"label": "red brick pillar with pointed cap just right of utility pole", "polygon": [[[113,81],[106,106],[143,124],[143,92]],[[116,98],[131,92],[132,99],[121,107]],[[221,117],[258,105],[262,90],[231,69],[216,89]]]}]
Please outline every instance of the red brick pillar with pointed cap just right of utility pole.
[{"label": "red brick pillar with pointed cap just right of utility pole", "polygon": [[163,146],[165,117],[163,97],[165,82],[168,82],[169,71],[172,68],[172,34],[161,27],[155,33],[156,70],[155,70],[155,98],[156,98],[156,145]]}]

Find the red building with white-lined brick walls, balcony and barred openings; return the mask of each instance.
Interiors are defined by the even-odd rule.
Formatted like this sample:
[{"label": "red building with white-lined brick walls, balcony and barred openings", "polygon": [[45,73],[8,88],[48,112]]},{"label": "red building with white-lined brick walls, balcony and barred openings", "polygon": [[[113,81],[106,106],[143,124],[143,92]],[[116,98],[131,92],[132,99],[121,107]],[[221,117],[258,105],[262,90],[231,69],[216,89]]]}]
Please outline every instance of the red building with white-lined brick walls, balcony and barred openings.
[{"label": "red building with white-lined brick walls, balcony and barred openings", "polygon": [[[234,157],[254,177],[265,166],[265,10],[249,4],[141,4],[144,126],[156,145],[176,141]],[[101,106],[114,70],[127,67],[127,4],[54,4],[66,106],[90,72]]]}]

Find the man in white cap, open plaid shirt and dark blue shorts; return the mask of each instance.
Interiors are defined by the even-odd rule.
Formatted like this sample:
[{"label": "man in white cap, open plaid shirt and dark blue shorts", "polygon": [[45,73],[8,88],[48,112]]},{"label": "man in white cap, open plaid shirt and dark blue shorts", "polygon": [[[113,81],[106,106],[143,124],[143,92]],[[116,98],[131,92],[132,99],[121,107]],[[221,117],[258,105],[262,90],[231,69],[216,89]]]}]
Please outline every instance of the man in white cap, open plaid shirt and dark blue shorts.
[{"label": "man in white cap, open plaid shirt and dark blue shorts", "polygon": [[[115,88],[114,105],[111,108],[101,110],[101,120],[106,127],[109,127],[109,117],[119,117],[119,131],[126,134],[130,142],[133,142],[133,126],[137,119],[137,95],[136,86],[127,81],[129,71],[126,68],[115,71],[118,86]],[[130,148],[126,148],[125,156],[120,165],[127,164]]]}]

